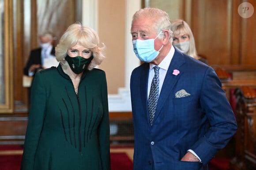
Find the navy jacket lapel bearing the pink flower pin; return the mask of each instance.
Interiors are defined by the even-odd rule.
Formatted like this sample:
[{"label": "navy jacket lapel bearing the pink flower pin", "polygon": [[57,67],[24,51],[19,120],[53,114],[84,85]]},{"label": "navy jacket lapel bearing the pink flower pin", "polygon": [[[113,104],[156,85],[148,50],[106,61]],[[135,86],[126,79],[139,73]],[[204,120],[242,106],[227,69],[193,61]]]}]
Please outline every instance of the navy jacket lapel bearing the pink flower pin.
[{"label": "navy jacket lapel bearing the pink flower pin", "polygon": [[[163,105],[166,102],[166,98],[170,95],[170,92],[172,91],[174,85],[177,83],[177,81],[181,77],[183,72],[180,69],[180,67],[181,65],[184,64],[184,62],[185,61],[184,61],[183,55],[180,52],[177,52],[177,50],[175,50],[172,61],[166,73],[166,77],[162,86],[161,93],[158,98],[158,105],[156,108],[154,120],[157,119]],[[173,70],[175,69],[180,71],[180,73],[177,76],[173,75]]]}]

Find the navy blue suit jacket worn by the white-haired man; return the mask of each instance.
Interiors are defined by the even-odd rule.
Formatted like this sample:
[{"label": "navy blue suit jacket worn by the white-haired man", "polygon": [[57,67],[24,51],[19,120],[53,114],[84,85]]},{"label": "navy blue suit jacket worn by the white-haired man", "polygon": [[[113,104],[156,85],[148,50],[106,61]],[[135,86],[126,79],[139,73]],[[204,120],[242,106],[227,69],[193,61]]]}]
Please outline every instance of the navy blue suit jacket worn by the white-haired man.
[{"label": "navy blue suit jacket worn by the white-haired man", "polygon": [[[173,70],[180,73],[175,76]],[[149,123],[149,63],[132,71],[130,89],[135,133],[134,170],[207,170],[207,163],[230,141],[237,123],[215,71],[175,50]],[[185,90],[190,96],[175,98]],[[180,161],[192,149],[202,160]]]}]

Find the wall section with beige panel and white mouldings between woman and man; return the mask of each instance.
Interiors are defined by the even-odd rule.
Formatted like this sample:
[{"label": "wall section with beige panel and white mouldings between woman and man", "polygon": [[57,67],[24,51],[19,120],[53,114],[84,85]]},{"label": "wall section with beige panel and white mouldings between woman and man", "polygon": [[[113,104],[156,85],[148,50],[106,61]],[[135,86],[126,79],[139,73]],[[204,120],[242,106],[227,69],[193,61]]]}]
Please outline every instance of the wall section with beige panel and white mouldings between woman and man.
[{"label": "wall section with beige panel and white mouldings between woman and man", "polygon": [[139,0],[83,0],[82,24],[99,34],[107,51],[98,68],[106,72],[109,112],[131,112],[130,76],[139,66],[132,48],[132,15],[141,8]]}]

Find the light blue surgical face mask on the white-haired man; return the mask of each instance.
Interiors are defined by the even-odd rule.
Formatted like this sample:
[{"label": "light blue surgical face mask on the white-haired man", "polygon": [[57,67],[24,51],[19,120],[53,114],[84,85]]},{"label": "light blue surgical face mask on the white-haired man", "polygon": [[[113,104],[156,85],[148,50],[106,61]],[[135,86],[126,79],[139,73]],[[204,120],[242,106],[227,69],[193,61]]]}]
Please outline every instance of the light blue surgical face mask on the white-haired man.
[{"label": "light blue surgical face mask on the white-haired man", "polygon": [[[162,33],[162,31],[161,31]],[[161,34],[159,33],[158,36]],[[144,62],[150,62],[154,60],[158,54],[159,51],[162,49],[162,47],[156,51],[154,49],[154,40],[158,37],[156,36],[154,39],[147,39],[147,40],[133,40],[133,51],[135,52],[136,56]]]}]

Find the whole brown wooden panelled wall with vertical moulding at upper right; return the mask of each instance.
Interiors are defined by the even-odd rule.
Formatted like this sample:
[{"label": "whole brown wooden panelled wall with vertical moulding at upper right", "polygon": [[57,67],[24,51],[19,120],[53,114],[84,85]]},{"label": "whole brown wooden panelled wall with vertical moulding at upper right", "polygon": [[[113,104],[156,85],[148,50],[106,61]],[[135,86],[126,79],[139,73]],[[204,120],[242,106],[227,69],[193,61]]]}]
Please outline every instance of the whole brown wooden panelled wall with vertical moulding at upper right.
[{"label": "whole brown wooden panelled wall with vertical moulding at upper right", "polygon": [[[192,0],[191,27],[209,65],[256,65],[256,14],[242,18],[243,0]],[[256,7],[255,0],[248,0]],[[253,43],[254,42],[254,43]]]}]

